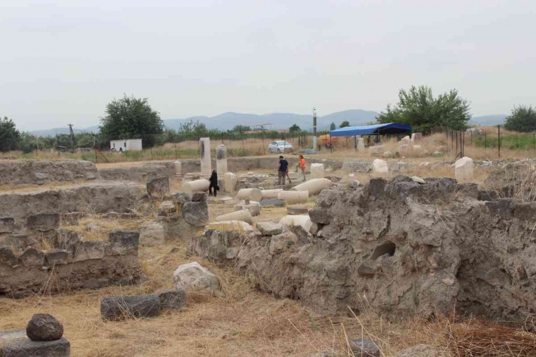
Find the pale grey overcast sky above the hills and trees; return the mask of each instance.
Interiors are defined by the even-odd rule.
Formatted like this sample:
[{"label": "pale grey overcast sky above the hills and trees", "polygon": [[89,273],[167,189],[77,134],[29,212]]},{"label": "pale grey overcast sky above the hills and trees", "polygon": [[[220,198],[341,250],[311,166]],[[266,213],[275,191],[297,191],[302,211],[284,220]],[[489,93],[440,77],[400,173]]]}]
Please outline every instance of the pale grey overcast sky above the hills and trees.
[{"label": "pale grey overcast sky above the hills and trees", "polygon": [[162,119],[381,111],[456,88],[473,115],[536,105],[533,0],[0,0],[0,115],[98,124],[123,93]]}]

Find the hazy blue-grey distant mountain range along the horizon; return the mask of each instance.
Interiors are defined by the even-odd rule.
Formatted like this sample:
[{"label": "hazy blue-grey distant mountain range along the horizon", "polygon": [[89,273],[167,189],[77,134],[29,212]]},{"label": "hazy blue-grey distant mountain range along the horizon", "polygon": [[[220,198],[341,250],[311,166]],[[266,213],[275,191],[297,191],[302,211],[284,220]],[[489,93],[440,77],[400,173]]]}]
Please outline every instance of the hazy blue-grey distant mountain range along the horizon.
[{"label": "hazy blue-grey distant mountain range along the horizon", "polygon": [[[317,129],[328,130],[329,125],[333,122],[339,127],[339,125],[344,122],[350,122],[350,125],[367,125],[370,123],[376,122],[376,117],[379,115],[375,111],[363,111],[361,109],[350,109],[348,111],[340,111],[337,113],[331,113],[318,117],[317,119]],[[477,125],[497,125],[504,123],[506,115],[496,114],[496,115],[484,115],[480,117],[471,118],[471,123]],[[166,128],[178,129],[179,126],[183,123],[186,123],[190,120],[199,121],[209,129],[219,129],[219,130],[230,130],[236,125],[246,125],[246,126],[256,126],[260,124],[271,124],[265,125],[267,129],[286,129],[297,124],[303,130],[312,130],[313,128],[313,119],[312,115],[309,114],[294,114],[294,113],[270,113],[270,114],[247,114],[247,113],[223,113],[216,115],[214,117],[188,117],[186,119],[165,119],[164,125]],[[85,129],[74,129],[74,133],[97,133],[99,126],[90,126]],[[54,137],[58,134],[69,134],[69,128],[53,128],[48,130],[33,130],[30,131],[30,134],[39,136],[39,137]]]}]

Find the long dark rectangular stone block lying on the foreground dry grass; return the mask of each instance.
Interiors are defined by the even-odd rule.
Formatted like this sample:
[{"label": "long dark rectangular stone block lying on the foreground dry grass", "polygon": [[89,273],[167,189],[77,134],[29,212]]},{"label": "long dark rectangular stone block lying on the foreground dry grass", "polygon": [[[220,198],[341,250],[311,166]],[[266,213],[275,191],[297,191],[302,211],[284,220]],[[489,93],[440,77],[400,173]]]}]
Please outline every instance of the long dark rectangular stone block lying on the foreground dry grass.
[{"label": "long dark rectangular stone block lying on the foreground dry grass", "polygon": [[131,295],[104,297],[100,302],[100,316],[104,320],[153,317],[160,314],[157,295]]}]

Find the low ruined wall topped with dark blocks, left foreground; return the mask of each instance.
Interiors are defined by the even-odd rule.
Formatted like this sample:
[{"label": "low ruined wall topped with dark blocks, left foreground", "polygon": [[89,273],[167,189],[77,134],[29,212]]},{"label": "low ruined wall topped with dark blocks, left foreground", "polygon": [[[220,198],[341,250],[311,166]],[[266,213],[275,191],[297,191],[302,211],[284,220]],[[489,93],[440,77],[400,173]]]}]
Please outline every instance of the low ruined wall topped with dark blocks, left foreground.
[{"label": "low ruined wall topped with dark blocks, left foreground", "polygon": [[0,297],[137,284],[138,240],[137,232],[113,231],[107,242],[85,241],[60,229],[45,251],[29,247],[16,253],[0,246]]}]

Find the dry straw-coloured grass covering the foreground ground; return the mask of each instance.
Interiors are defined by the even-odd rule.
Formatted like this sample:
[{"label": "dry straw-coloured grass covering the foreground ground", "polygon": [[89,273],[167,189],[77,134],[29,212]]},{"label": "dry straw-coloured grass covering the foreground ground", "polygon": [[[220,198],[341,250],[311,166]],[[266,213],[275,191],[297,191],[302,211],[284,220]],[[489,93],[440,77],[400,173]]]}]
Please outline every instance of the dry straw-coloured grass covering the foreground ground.
[{"label": "dry straw-coloured grass covering the foreground ground", "polygon": [[[170,249],[179,246],[178,253]],[[0,330],[20,330],[34,313],[50,313],[65,327],[72,356],[309,356],[323,349],[344,353],[346,338],[375,337],[387,356],[418,343],[441,344],[443,323],[416,320],[391,324],[375,314],[317,316],[298,301],[273,299],[256,292],[245,277],[210,262],[201,264],[221,280],[223,295],[188,294],[180,312],[153,319],[104,322],[100,298],[148,294],[171,288],[172,272],[188,262],[183,244],[140,251],[148,281],[140,286],[110,287],[56,296],[0,300]],[[408,338],[408,329],[412,332]],[[433,333],[432,333],[433,331]],[[343,354],[346,355],[346,354]]]}]

